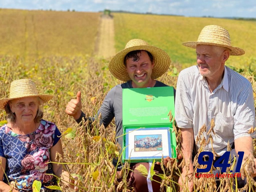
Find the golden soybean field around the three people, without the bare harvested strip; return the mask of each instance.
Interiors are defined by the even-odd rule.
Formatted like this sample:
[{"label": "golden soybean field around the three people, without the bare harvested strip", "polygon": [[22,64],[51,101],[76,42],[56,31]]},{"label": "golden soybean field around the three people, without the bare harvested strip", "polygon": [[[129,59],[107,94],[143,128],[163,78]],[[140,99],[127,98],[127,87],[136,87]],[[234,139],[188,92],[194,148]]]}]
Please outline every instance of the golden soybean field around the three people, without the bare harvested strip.
[{"label": "golden soybean field around the three people, without the bare harvested strip", "polygon": [[[40,93],[54,98],[44,106],[44,119],[55,122],[62,135],[65,161],[72,173],[81,176],[81,191],[132,191],[127,188],[125,164],[120,174],[113,167],[113,157],[120,158],[115,141],[115,127],[104,128],[88,122],[81,127],[65,113],[65,108],[77,91],[82,92],[83,111],[92,116],[99,109],[106,93],[121,81],[108,70],[111,58],[95,56],[101,13],[27,11],[0,9],[0,98],[9,94],[13,80],[29,78],[36,82]],[[243,56],[230,56],[227,65],[235,67],[248,78],[254,89],[256,106],[256,23],[253,21],[114,13],[114,45],[116,52],[133,38],[141,38],[150,45],[165,50],[172,60],[170,69],[159,80],[176,87],[180,70],[196,64],[195,50],[182,42],[196,41],[201,29],[210,24],[228,29],[233,46],[245,50]],[[0,112],[5,123],[6,114]],[[177,142],[180,133],[177,134]],[[178,144],[177,143],[177,144]],[[204,145],[204,142],[201,142]],[[254,145],[255,146],[255,145]],[[177,148],[179,150],[179,148]],[[162,187],[176,184],[179,168],[185,162],[167,165]],[[198,166],[198,165],[195,165]],[[211,170],[212,171],[212,170]],[[143,172],[141,170],[141,172]],[[142,173],[143,174],[143,173]],[[232,179],[221,179],[221,187],[206,178],[193,178],[195,190],[231,191]],[[246,188],[253,190],[248,179]],[[62,184],[63,191],[70,191]]]}]

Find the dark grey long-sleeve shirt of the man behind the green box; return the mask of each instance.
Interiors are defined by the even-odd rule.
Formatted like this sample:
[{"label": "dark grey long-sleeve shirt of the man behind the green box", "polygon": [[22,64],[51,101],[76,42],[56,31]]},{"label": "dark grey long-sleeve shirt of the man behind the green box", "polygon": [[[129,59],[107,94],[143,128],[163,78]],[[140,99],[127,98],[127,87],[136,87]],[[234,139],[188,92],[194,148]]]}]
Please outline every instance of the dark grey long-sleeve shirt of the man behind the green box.
[{"label": "dark grey long-sleeve shirt of the man behind the green box", "polygon": [[[156,84],[154,87],[166,87],[167,85],[156,81]],[[118,142],[121,146],[123,146],[123,137],[119,137],[120,135],[123,135],[123,106],[122,106],[122,89],[126,88],[133,88],[132,87],[132,81],[128,81],[126,83],[118,84],[115,87],[113,87],[108,94],[106,95],[97,115],[94,116],[94,118],[90,119],[94,121],[95,118],[101,113],[101,119],[100,124],[103,123],[105,127],[107,127],[112,119],[115,117],[115,125],[116,125],[116,142]],[[175,97],[175,89],[174,89],[174,97]],[[85,114],[82,112],[80,118],[77,121],[77,123],[80,123],[82,121],[82,118],[84,120],[87,120],[85,118]],[[122,149],[120,150],[120,153],[122,152]],[[113,164],[116,165],[115,159],[113,160]]]}]

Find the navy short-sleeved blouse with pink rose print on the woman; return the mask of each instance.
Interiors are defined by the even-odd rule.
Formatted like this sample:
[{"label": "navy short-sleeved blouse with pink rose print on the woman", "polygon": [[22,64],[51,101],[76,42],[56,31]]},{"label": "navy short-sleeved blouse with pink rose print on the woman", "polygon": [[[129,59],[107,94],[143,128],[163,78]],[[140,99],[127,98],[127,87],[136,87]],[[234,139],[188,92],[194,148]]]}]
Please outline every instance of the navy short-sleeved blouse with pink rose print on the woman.
[{"label": "navy short-sleeved blouse with pink rose print on the woman", "polygon": [[[38,129],[27,135],[16,134],[3,125],[0,128],[0,156],[6,158],[5,173],[10,185],[20,191],[32,191],[34,180],[41,181],[42,189],[56,185],[54,176],[46,175],[53,173],[52,165],[46,163],[50,161],[50,148],[59,141],[60,135],[54,123],[43,119]],[[6,178],[4,182],[8,184]]]}]

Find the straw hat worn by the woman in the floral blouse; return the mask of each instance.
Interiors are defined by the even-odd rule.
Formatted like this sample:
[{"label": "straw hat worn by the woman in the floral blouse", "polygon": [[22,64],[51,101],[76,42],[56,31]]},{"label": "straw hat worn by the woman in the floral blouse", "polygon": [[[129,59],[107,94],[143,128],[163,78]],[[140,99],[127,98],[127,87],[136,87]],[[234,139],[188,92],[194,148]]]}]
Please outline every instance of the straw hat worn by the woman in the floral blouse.
[{"label": "straw hat worn by the woman in the floral blouse", "polygon": [[0,100],[0,109],[4,109],[8,101],[24,97],[39,97],[43,103],[46,103],[53,96],[39,94],[36,84],[30,79],[19,79],[11,82],[9,98]]}]

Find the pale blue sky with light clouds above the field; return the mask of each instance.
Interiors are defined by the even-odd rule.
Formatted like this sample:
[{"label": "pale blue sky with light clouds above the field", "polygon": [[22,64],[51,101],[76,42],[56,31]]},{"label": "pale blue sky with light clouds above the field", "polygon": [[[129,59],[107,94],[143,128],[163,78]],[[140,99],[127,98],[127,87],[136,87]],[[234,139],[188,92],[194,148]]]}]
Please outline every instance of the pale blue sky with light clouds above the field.
[{"label": "pale blue sky with light clouds above the field", "polygon": [[253,17],[255,0],[0,0],[1,8],[98,12],[105,8],[184,16]]}]

